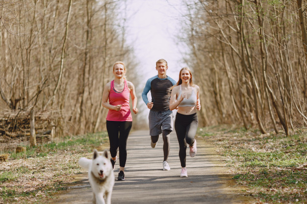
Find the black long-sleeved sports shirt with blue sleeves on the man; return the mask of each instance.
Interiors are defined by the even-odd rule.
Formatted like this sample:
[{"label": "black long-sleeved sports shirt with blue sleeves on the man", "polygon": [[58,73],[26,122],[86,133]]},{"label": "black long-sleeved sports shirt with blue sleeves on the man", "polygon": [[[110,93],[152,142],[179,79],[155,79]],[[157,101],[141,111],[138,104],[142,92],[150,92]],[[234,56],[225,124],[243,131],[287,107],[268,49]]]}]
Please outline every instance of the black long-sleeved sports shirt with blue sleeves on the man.
[{"label": "black long-sleeved sports shirt with blue sleeves on the man", "polygon": [[158,78],[158,75],[147,80],[145,88],[142,92],[142,98],[145,104],[149,103],[147,93],[151,91],[153,111],[168,111],[170,109],[170,88],[177,82],[167,76],[165,79]]}]

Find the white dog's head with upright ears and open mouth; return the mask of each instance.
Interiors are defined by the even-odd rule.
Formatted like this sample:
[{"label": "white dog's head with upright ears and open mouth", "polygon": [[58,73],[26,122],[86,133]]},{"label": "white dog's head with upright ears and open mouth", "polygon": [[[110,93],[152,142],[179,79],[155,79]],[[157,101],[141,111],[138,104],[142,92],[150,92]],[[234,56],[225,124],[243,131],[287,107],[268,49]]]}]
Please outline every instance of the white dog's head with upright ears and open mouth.
[{"label": "white dog's head with upright ears and open mouth", "polygon": [[91,171],[99,180],[104,180],[112,172],[112,164],[106,150],[103,151],[102,155],[99,155],[97,150],[94,150]]}]

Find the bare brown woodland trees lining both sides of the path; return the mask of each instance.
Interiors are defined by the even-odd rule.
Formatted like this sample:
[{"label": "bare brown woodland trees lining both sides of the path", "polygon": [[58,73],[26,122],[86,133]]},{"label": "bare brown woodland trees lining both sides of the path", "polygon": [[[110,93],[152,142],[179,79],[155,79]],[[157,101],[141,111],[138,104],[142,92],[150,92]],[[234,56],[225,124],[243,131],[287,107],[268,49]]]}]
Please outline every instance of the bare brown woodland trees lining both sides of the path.
[{"label": "bare brown woodland trees lining both sides of the path", "polygon": [[[140,84],[131,74],[138,62],[126,43],[125,13],[115,14],[127,3],[0,1],[2,135],[28,132],[24,121],[31,111],[36,129],[53,127],[57,136],[104,129],[101,97],[112,64],[124,61],[128,79]],[[182,60],[201,87],[201,125],[235,124],[286,135],[304,129],[306,1],[181,3],[188,14],[177,39],[187,46]],[[143,125],[135,121],[135,128]]]}]

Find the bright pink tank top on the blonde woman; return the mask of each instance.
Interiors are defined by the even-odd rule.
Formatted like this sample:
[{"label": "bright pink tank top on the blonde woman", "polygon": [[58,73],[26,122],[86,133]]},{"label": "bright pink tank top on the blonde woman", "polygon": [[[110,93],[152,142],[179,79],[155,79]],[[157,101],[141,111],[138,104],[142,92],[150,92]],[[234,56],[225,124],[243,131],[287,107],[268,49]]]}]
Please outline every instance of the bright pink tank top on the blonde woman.
[{"label": "bright pink tank top on the blonde woman", "polygon": [[130,91],[125,80],[125,88],[119,92],[114,89],[114,80],[111,81],[109,104],[116,106],[122,104],[120,111],[109,110],[106,120],[109,121],[132,121],[132,115],[129,106]]}]

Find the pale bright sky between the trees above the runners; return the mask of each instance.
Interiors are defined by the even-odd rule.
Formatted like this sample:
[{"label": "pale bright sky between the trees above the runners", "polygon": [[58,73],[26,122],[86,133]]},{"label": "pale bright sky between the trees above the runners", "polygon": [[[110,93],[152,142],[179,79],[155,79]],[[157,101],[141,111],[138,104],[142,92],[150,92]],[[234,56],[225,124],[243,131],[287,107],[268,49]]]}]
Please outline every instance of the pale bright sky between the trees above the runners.
[{"label": "pale bright sky between the trees above the runners", "polygon": [[178,80],[182,45],[176,42],[184,6],[180,0],[127,0],[127,39],[140,63],[143,78],[157,74],[155,62],[168,62],[167,75]]}]

